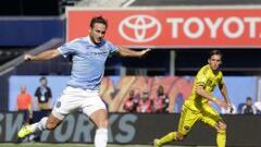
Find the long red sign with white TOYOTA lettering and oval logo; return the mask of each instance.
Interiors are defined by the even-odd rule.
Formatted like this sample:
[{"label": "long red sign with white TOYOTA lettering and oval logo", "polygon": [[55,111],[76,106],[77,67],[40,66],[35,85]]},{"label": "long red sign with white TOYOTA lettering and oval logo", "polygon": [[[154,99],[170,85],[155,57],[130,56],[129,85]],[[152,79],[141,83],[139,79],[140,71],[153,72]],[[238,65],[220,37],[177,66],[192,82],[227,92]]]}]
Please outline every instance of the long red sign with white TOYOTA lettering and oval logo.
[{"label": "long red sign with white TOYOTA lettering and oval logo", "polygon": [[67,9],[67,40],[87,36],[91,17],[109,22],[107,39],[130,47],[261,47],[260,8]]}]

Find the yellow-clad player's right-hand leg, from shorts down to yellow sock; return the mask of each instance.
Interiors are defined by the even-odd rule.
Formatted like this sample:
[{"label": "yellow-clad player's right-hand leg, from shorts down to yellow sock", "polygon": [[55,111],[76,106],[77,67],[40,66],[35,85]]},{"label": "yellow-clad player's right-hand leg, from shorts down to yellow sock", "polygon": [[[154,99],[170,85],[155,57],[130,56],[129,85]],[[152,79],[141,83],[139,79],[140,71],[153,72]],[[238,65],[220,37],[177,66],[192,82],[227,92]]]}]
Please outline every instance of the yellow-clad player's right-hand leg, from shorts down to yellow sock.
[{"label": "yellow-clad player's right-hand leg, from shorts down to yellow sock", "polygon": [[216,130],[216,145],[217,147],[225,147],[226,145],[226,124],[220,114],[211,107],[204,108],[202,121]]}]

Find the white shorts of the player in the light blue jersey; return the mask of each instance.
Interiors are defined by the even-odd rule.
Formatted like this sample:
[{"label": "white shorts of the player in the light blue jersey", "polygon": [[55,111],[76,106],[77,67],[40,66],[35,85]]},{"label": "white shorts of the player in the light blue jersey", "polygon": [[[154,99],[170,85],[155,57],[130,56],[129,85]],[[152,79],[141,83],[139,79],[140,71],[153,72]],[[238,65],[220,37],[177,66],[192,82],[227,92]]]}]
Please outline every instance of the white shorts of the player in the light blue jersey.
[{"label": "white shorts of the player in the light blue jersey", "polygon": [[59,120],[63,120],[65,115],[79,109],[89,117],[97,110],[107,110],[107,107],[99,97],[98,90],[67,86],[63,90],[62,96],[55,102],[55,106],[52,109],[52,114]]}]

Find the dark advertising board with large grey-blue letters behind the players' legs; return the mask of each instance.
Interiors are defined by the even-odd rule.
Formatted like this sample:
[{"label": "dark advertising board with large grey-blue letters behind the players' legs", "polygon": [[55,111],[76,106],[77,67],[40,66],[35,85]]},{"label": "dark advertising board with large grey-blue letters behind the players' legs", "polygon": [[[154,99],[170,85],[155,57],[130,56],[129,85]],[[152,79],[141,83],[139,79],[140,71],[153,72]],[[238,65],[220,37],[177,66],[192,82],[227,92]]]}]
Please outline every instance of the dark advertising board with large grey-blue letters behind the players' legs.
[{"label": "dark advertising board with large grey-blue letters behind the players' legs", "polygon": [[[42,113],[36,113],[40,119]],[[260,147],[260,115],[223,115],[228,124],[227,146]],[[110,114],[109,142],[114,144],[151,144],[154,137],[176,130],[178,114]],[[0,113],[0,142],[15,142],[23,113]],[[53,132],[45,131],[41,142],[94,140],[95,125],[84,114],[71,114]],[[215,131],[197,123],[184,142],[176,145],[215,145]]]}]

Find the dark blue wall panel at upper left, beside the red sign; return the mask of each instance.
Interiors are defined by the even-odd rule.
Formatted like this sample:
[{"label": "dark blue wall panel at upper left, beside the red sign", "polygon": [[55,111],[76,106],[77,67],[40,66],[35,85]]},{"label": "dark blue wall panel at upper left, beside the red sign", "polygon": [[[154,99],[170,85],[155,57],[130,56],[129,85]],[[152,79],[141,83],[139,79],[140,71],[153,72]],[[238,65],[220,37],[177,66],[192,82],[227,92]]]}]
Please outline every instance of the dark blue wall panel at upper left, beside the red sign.
[{"label": "dark blue wall panel at upper left, beside the red sign", "polygon": [[0,17],[0,46],[38,46],[64,34],[60,17]]}]

